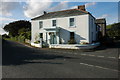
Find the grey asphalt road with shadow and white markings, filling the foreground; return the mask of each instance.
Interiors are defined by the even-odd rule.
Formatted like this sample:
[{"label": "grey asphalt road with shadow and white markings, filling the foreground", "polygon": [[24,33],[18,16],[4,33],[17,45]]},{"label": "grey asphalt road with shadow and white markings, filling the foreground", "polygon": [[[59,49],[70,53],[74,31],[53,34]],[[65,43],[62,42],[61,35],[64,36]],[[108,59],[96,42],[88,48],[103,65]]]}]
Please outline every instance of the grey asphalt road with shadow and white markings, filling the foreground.
[{"label": "grey asphalt road with shadow and white markings, filling the foreground", "polygon": [[39,49],[3,41],[3,78],[118,78],[118,48]]}]

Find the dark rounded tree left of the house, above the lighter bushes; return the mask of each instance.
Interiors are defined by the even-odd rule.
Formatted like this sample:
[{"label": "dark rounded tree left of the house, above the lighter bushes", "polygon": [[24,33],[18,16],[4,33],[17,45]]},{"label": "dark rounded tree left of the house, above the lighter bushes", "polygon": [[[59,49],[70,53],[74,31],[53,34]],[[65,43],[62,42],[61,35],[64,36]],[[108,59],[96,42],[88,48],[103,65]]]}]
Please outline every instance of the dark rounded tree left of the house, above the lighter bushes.
[{"label": "dark rounded tree left of the house, above the lighter bushes", "polygon": [[19,20],[15,22],[11,22],[4,26],[4,30],[9,32],[9,35],[12,37],[18,36],[19,30],[25,28],[26,31],[31,31],[31,23],[25,20]]}]

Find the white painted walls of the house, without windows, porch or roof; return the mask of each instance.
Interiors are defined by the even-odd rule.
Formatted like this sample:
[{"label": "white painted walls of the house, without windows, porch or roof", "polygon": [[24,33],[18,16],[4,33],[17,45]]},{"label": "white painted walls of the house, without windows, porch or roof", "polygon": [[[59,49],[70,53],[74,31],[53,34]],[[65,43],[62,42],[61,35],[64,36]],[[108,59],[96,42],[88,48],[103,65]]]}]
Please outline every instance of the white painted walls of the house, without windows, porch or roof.
[{"label": "white painted walls of the house, without windows, porch or roof", "polygon": [[[75,18],[75,27],[69,26],[69,18]],[[53,18],[53,19],[45,19],[45,20],[32,20],[32,41],[35,42],[35,36],[39,33],[43,33],[43,40],[46,40],[46,32],[44,28],[52,27],[52,20],[57,20],[57,27],[60,27],[60,38],[62,43],[67,43],[70,38],[69,32],[75,32],[75,40],[77,43],[80,41],[85,41],[90,43],[91,31],[95,31],[95,25],[91,28],[91,19],[93,17],[89,14],[79,15],[79,16],[70,16],[63,18]],[[90,22],[89,22],[90,20]],[[43,28],[39,29],[39,21],[43,21]],[[94,20],[93,20],[94,21]],[[90,30],[89,30],[90,28]],[[95,39],[95,35],[94,38]]]}]

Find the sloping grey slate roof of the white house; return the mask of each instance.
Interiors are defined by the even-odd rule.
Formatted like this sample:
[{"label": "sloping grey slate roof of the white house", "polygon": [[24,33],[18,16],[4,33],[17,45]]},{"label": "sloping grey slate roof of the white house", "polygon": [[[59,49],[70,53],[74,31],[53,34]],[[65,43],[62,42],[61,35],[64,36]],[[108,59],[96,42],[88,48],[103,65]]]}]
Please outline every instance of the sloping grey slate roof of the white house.
[{"label": "sloping grey slate roof of the white house", "polygon": [[56,12],[49,12],[41,16],[32,18],[31,20],[44,20],[44,19],[51,19],[51,18],[84,15],[84,14],[89,14],[89,12],[83,11],[80,9],[69,9],[69,10],[62,10],[62,11],[56,11]]}]

